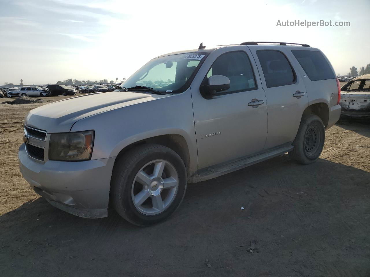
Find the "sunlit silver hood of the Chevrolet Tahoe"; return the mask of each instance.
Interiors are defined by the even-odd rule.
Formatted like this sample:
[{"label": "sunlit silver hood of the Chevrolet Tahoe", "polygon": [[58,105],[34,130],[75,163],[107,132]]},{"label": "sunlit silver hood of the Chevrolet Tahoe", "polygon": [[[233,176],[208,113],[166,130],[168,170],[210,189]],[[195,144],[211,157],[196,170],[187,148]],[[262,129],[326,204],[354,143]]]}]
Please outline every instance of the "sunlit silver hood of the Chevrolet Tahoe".
[{"label": "sunlit silver hood of the Chevrolet Tahoe", "polygon": [[33,109],[27,114],[25,124],[48,133],[64,133],[78,120],[93,114],[163,97],[166,96],[138,92],[92,93]]}]

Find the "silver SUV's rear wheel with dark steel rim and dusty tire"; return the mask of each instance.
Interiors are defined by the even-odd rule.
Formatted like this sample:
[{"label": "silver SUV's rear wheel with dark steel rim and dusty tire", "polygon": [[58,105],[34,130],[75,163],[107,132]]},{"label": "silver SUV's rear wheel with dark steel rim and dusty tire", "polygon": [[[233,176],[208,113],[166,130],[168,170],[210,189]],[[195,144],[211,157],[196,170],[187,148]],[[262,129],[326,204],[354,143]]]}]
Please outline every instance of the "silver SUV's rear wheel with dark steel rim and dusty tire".
[{"label": "silver SUV's rear wheel with dark steel rim and dusty tire", "polygon": [[313,163],[320,157],[324,142],[325,128],[322,120],[315,114],[309,114],[301,120],[289,156],[301,164]]}]

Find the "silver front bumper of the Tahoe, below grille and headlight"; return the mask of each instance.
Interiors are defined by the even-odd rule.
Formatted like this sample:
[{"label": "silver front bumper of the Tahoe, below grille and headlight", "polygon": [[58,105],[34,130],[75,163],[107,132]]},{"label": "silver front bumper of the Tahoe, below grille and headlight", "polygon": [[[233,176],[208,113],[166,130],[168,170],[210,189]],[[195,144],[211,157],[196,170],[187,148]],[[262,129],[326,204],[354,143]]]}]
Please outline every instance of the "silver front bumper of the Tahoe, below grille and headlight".
[{"label": "silver front bumper of the Tahoe, below grille and headlight", "polygon": [[53,206],[83,218],[108,215],[110,180],[115,157],[90,161],[34,160],[19,147],[20,171],[37,194]]}]

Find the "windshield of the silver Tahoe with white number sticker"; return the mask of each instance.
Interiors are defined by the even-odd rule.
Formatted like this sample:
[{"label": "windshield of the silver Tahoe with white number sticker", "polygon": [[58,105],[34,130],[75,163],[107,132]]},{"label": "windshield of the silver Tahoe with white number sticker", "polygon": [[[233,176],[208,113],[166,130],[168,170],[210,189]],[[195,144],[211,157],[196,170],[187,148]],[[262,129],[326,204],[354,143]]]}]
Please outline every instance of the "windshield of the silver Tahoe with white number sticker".
[{"label": "windshield of the silver Tahoe with white number sticker", "polygon": [[193,52],[152,59],[121,84],[123,88],[147,86],[161,93],[182,93],[208,53]]}]

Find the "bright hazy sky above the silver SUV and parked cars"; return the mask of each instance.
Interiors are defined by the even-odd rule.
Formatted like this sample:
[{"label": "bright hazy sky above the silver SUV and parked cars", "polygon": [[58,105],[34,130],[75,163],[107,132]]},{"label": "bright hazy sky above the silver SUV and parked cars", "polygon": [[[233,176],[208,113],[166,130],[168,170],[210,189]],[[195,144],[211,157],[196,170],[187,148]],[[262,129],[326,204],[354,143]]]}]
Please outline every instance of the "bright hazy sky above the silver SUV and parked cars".
[{"label": "bright hazy sky above the silver SUV and parked cars", "polygon": [[[341,74],[370,63],[370,0],[0,0],[0,10],[0,85],[120,80],[151,58],[200,42],[306,43]],[[277,20],[350,27],[279,27]]]}]

